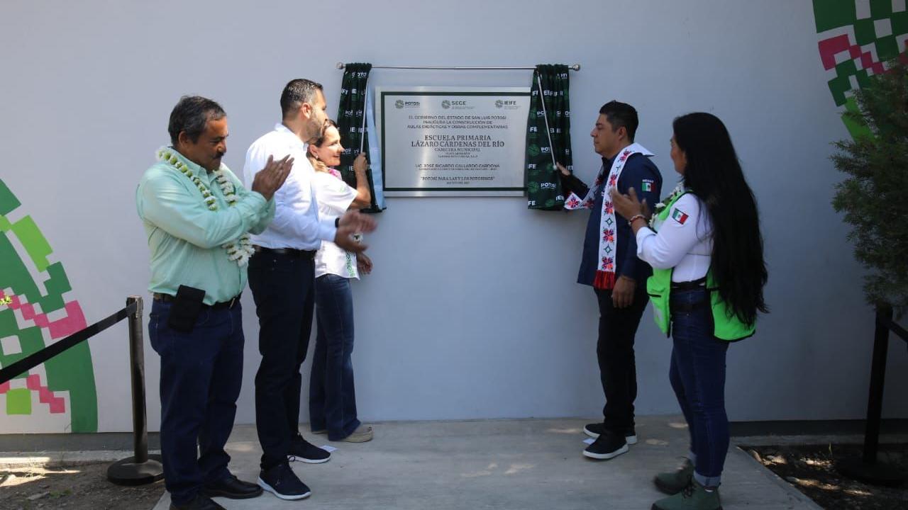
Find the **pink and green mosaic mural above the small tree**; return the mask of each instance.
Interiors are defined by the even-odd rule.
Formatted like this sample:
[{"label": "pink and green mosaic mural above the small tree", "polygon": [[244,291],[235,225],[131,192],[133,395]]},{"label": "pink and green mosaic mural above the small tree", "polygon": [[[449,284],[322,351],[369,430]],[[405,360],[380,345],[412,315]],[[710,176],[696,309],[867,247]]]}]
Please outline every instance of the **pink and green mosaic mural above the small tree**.
[{"label": "pink and green mosaic mural above the small tree", "polygon": [[[883,74],[888,61],[908,64],[908,12],[905,0],[814,0],[820,60],[829,74],[829,92],[836,106],[856,112],[854,89]],[[854,137],[866,128],[842,117]]]}]

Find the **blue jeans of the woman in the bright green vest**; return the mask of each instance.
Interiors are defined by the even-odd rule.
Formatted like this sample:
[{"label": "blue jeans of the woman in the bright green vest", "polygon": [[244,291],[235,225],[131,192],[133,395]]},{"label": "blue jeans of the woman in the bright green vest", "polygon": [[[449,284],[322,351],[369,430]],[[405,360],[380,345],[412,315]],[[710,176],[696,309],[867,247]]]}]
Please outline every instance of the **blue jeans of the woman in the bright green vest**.
[{"label": "blue jeans of the woman in the bright green vest", "polygon": [[[725,415],[725,353],[728,342],[713,336],[713,315],[706,289],[672,290],[672,348],[668,378],[690,431],[694,476],[718,486],[728,452]],[[703,301],[706,300],[706,303]],[[696,309],[676,308],[703,303]]]}]

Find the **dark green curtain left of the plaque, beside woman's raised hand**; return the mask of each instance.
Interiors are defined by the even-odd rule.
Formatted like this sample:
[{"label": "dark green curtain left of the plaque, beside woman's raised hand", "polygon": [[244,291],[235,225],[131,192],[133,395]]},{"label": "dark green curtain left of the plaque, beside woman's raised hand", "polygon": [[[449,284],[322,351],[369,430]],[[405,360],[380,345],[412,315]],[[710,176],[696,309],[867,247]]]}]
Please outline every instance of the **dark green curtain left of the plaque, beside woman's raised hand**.
[{"label": "dark green curtain left of the plaque, beside woman's raised hand", "polygon": [[[353,160],[362,151],[369,155],[369,133],[366,129],[366,88],[369,83],[369,72],[372,64],[345,64],[343,82],[341,83],[341,103],[338,104],[338,131],[341,132],[341,145],[344,152],[341,154],[341,172],[343,180],[356,187],[356,174],[353,172]],[[372,181],[372,172],[367,172],[369,189],[372,195],[370,206],[363,212],[381,212],[376,202],[375,184]]]}]

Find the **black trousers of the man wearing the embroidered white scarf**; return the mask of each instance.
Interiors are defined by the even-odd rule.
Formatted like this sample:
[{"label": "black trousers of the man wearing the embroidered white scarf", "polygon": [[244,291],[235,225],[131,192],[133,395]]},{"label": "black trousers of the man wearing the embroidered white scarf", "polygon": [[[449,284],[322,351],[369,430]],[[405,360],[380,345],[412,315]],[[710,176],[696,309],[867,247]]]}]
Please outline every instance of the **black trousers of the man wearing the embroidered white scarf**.
[{"label": "black trousers of the man wearing the embroidered white scarf", "polygon": [[624,434],[634,428],[634,400],[637,399],[637,365],[634,337],[646,309],[646,289],[638,286],[634,302],[617,309],[612,304],[612,291],[594,289],[599,302],[599,339],[596,354],[599,377],[606,394],[602,409],[607,430]]}]

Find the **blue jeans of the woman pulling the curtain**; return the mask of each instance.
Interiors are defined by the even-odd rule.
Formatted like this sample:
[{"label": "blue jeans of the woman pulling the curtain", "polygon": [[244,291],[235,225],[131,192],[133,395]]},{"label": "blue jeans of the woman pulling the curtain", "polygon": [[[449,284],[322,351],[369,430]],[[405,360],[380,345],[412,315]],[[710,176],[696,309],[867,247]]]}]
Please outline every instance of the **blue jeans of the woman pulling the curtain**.
[{"label": "blue jeans of the woman pulling the curtain", "polygon": [[340,441],[360,427],[353,387],[353,296],[350,280],[334,274],[315,280],[318,334],[309,383],[312,430]]}]

